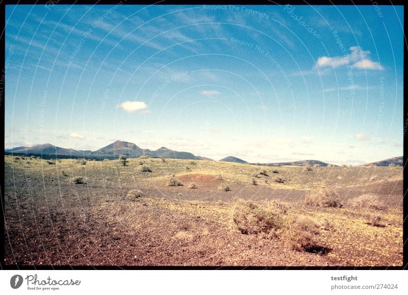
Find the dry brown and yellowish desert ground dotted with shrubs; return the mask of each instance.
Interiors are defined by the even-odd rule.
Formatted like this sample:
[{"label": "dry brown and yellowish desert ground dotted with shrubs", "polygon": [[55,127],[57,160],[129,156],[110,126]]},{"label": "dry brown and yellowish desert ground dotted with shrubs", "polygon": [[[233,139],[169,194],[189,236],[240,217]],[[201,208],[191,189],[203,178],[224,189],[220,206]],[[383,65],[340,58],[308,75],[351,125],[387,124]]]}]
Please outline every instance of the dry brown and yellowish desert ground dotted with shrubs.
[{"label": "dry brown and yellowish desert ground dotted with shrubs", "polygon": [[6,265],[402,265],[402,167],[84,163],[5,156]]}]

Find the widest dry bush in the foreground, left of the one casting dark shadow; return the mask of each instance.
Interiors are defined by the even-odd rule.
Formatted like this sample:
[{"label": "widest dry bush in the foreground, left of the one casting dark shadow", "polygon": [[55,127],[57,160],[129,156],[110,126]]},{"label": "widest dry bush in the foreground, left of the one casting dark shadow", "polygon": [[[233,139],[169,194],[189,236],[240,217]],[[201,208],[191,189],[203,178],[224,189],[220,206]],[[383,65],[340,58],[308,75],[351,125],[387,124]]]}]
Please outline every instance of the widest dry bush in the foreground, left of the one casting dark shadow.
[{"label": "widest dry bush in the foreground, left of the one casting dark shadow", "polygon": [[231,211],[231,225],[244,234],[279,234],[284,226],[288,207],[279,202],[259,205],[251,201],[238,200]]}]

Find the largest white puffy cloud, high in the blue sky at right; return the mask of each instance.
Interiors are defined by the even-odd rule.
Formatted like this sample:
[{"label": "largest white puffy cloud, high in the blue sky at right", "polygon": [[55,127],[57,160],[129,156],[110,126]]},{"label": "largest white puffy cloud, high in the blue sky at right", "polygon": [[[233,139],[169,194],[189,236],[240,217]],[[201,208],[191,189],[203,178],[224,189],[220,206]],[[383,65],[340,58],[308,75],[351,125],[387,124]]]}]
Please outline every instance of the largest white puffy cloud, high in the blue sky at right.
[{"label": "largest white puffy cloud, high in the blue sky at right", "polygon": [[347,56],[342,57],[320,57],[317,59],[316,65],[318,68],[333,67],[338,68],[344,65],[352,65],[358,69],[366,70],[382,70],[384,67],[378,62],[370,60],[371,52],[368,50],[361,49],[360,46],[351,46],[350,53]]}]

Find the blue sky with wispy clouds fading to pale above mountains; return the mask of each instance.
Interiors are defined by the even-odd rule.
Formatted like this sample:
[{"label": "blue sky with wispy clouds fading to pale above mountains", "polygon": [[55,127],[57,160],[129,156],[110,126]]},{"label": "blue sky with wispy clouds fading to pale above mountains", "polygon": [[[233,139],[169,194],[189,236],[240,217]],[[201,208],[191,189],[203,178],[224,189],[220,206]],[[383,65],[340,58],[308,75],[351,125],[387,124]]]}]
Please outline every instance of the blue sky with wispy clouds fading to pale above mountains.
[{"label": "blue sky with wispy clouds fading to pale above mountains", "polygon": [[6,6],[5,148],[402,155],[401,6]]}]

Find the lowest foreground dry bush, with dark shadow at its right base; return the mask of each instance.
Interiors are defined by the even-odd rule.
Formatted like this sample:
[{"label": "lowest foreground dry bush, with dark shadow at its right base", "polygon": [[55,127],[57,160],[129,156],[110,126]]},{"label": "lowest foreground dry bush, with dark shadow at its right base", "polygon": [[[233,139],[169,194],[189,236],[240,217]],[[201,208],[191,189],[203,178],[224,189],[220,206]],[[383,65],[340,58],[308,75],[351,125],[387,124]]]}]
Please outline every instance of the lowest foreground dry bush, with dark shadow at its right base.
[{"label": "lowest foreground dry bush, with dark shadow at its right base", "polygon": [[283,238],[293,250],[307,251],[315,245],[316,236],[319,234],[319,224],[310,217],[298,216],[291,220]]}]

